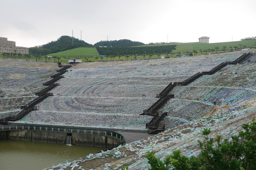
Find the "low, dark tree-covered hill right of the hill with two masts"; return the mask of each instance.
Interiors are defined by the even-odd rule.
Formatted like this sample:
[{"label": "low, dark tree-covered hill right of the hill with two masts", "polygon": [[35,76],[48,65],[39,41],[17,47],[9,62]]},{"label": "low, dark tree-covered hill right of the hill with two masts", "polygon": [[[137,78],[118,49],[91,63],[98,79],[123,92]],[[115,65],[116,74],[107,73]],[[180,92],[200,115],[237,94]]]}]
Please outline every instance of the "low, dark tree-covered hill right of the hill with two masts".
[{"label": "low, dark tree-covered hill right of the hill with two masts", "polygon": [[112,40],[112,41],[100,41],[94,44],[94,47],[100,47],[100,46],[132,47],[132,46],[138,46],[138,45],[145,45],[145,44],[138,41],[131,41],[129,39],[120,39],[120,40]]}]

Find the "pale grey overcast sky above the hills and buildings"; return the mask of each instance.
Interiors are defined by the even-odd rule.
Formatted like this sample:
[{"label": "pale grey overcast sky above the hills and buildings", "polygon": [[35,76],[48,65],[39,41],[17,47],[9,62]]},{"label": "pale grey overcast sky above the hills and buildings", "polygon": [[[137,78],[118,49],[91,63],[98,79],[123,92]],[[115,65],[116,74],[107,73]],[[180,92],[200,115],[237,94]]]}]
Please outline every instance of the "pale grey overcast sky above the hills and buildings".
[{"label": "pale grey overcast sky above the hills and buildings", "polygon": [[[256,36],[256,0],[1,0],[0,37],[34,47],[72,36],[94,44],[210,43]],[[168,35],[168,36],[167,36]]]}]

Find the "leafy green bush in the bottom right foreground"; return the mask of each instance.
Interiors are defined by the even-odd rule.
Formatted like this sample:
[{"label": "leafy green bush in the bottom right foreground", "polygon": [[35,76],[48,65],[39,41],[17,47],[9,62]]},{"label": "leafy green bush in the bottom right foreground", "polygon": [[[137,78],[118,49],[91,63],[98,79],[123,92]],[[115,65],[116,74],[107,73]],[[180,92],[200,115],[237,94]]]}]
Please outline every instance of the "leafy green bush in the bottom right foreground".
[{"label": "leafy green bush in the bottom right foreground", "polygon": [[209,138],[210,129],[201,133],[203,141],[198,141],[200,156],[188,158],[176,150],[168,155],[164,161],[156,158],[153,152],[146,154],[151,168],[148,170],[256,170],[256,122],[243,124],[244,131],[232,140],[217,136]]}]

